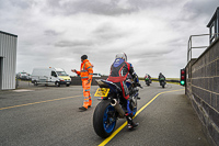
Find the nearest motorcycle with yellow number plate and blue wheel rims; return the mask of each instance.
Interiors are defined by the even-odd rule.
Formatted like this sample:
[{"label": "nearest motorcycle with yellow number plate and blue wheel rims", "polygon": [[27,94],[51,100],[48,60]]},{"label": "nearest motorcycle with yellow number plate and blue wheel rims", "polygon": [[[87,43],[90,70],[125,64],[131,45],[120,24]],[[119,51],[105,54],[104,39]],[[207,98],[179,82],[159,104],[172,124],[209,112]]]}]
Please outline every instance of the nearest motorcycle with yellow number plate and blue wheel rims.
[{"label": "nearest motorcycle with yellow number plate and blue wheel rims", "polygon": [[[100,88],[94,97],[102,98],[93,113],[93,127],[100,137],[106,138],[114,132],[117,120],[125,117],[127,101],[123,98],[122,89],[117,85],[103,79],[99,79],[96,82]],[[134,81],[127,81],[127,87],[130,97],[129,109],[132,112],[132,116],[135,116],[137,100],[140,99],[138,97],[138,87],[142,87]]]}]

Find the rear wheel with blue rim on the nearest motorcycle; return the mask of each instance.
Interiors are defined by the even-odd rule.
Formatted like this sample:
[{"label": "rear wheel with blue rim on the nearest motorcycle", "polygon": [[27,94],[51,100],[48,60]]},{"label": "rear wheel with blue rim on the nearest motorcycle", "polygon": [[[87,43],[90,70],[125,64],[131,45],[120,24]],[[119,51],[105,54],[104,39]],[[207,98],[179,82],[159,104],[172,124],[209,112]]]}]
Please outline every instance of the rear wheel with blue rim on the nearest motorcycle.
[{"label": "rear wheel with blue rim on the nearest motorcycle", "polygon": [[108,137],[116,126],[115,109],[107,100],[102,100],[93,113],[93,127],[95,133],[102,137]]}]

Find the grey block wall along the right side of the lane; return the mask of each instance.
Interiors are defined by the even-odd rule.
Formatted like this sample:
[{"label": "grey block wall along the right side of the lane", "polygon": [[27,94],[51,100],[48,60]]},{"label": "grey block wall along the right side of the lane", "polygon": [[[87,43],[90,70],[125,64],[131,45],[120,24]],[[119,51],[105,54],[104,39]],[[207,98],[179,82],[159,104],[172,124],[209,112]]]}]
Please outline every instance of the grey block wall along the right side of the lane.
[{"label": "grey block wall along the right side of the lane", "polygon": [[186,96],[214,145],[219,146],[219,40],[186,66]]}]

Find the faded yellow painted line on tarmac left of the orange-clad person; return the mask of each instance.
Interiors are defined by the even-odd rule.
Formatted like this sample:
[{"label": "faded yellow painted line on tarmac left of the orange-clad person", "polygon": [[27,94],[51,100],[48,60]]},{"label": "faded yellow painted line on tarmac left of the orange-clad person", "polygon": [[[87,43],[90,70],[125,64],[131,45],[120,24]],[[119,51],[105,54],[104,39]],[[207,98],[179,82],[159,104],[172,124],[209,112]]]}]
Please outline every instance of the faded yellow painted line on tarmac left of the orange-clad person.
[{"label": "faded yellow painted line on tarmac left of the orange-clad person", "polygon": [[5,108],[0,108],[0,110],[7,110],[7,109],[19,108],[19,106],[26,106],[26,105],[39,104],[39,103],[51,102],[51,101],[58,101],[58,100],[65,100],[65,99],[72,99],[72,98],[77,98],[77,97],[80,97],[80,96],[66,97],[66,98],[53,99],[53,100],[45,100],[45,101],[38,101],[38,102],[26,103],[26,104],[20,104],[20,105],[13,105],[13,106],[5,106]]}]

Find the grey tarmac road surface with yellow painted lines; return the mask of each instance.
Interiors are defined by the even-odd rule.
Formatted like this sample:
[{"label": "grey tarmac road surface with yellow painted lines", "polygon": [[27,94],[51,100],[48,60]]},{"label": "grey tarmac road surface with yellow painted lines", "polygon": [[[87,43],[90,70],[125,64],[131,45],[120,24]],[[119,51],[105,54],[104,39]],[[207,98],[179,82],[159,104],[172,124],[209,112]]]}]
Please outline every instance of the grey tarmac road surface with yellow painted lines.
[{"label": "grey tarmac road surface with yellow painted lines", "polygon": [[[85,112],[81,86],[32,87],[0,91],[0,146],[208,146],[201,124],[194,112],[184,88],[158,82],[147,87],[141,82],[139,122],[135,131],[122,127],[107,139],[93,130],[93,112],[97,103]],[[94,94],[97,87],[92,87]]]}]

